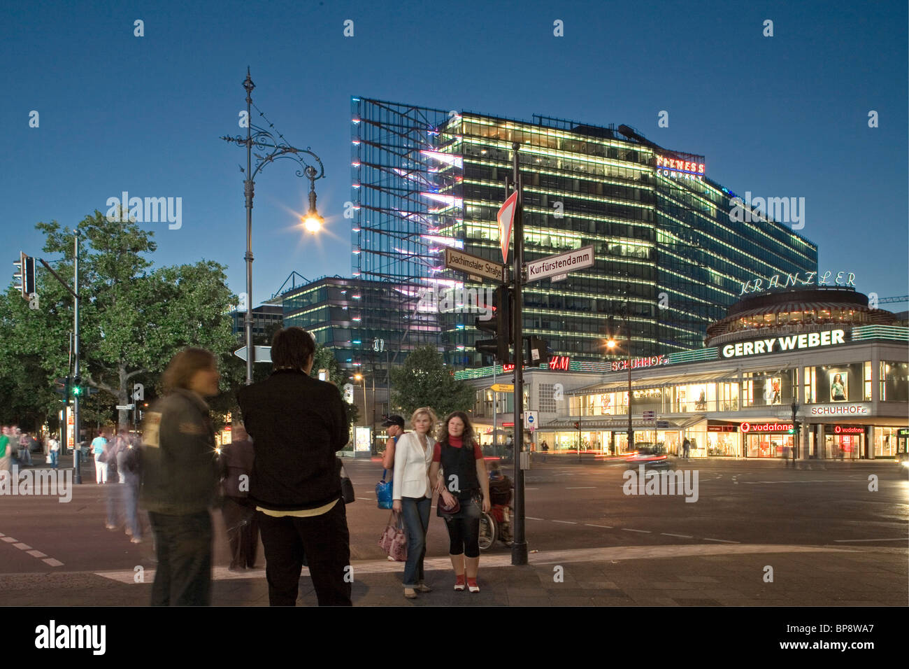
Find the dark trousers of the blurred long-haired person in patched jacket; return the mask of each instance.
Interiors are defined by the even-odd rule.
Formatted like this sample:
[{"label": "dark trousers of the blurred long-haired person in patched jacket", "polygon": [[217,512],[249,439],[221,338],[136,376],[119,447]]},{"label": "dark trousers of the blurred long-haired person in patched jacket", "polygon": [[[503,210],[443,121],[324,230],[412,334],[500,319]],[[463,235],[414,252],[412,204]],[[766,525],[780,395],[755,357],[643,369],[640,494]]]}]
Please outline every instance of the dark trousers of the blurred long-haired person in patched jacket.
[{"label": "dark trousers of the blurred long-haired person in patched jacket", "polygon": [[212,517],[148,512],[155,532],[158,566],[152,606],[209,606],[212,603]]}]

